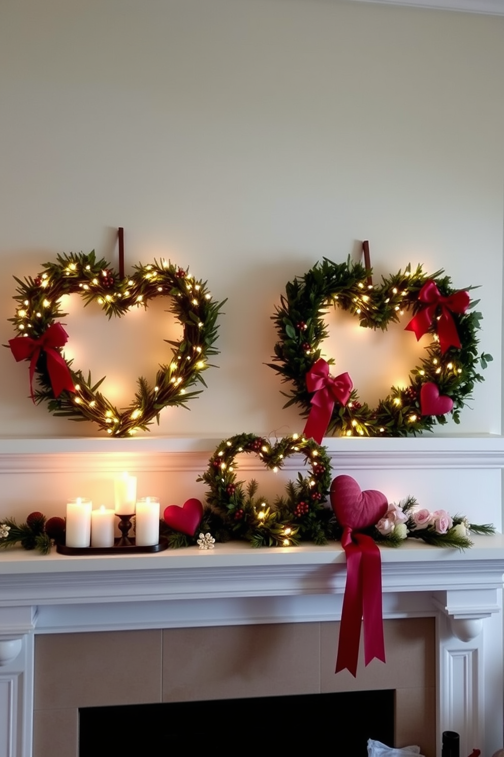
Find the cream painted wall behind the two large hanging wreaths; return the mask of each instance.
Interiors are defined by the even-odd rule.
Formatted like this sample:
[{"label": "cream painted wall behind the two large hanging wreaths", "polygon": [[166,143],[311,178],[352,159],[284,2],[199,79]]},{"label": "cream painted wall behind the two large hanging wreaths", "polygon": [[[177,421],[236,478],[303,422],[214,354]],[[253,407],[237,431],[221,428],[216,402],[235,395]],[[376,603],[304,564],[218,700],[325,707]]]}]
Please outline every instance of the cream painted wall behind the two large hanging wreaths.
[{"label": "cream painted wall behind the two large hanging wreaths", "polygon": [[[481,347],[495,362],[448,430],[499,434],[502,71],[502,17],[338,0],[2,0],[0,341],[14,335],[14,274],[35,276],[59,251],[115,263],[125,226],[128,263],[171,257],[228,298],[208,390],[152,433],[283,435],[302,424],[264,365],[274,305],[296,274],[369,238],[377,278],[411,260],[482,285]],[[110,331],[92,313],[68,319],[73,348],[88,340],[79,367],[117,365],[132,383],[153,372],[165,332],[152,310],[134,344],[137,316]],[[27,367],[8,350],[1,360],[2,437],[96,434],[32,407]]]}]

